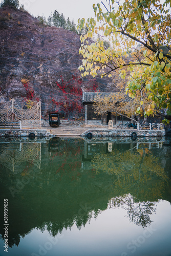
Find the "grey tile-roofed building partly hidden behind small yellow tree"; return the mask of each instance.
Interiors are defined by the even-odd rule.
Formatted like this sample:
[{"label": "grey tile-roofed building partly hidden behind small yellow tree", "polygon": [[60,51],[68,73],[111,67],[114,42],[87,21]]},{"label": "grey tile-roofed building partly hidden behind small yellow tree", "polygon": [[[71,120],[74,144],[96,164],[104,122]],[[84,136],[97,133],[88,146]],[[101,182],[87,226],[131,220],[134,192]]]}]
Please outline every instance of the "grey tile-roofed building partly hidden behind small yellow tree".
[{"label": "grey tile-roofed building partly hidden behind small yellow tree", "polygon": [[[94,112],[93,109],[93,103],[96,97],[104,98],[108,97],[110,95],[115,95],[115,93],[92,93],[92,92],[84,92],[82,95],[82,102],[83,105],[85,105],[85,122],[88,124],[99,124],[99,125],[105,125],[108,124],[109,120],[113,120],[113,124],[117,124],[120,121],[122,121],[123,118],[123,123],[130,121],[130,119],[121,117],[121,116],[116,116],[112,115],[111,112],[104,114],[104,115],[97,115]],[[125,96],[124,101],[130,101],[129,96]]]}]

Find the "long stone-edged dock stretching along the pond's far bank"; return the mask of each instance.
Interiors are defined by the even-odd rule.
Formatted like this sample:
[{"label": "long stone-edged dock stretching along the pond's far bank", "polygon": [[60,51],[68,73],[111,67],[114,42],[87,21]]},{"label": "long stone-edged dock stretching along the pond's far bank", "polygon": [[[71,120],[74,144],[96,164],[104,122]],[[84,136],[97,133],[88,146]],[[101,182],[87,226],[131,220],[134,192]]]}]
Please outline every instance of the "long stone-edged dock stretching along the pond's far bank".
[{"label": "long stone-edged dock stretching along the pond's far bank", "polygon": [[165,130],[137,130],[137,129],[113,129],[108,126],[68,126],[61,125],[58,128],[44,127],[43,129],[0,129],[0,137],[163,137]]}]

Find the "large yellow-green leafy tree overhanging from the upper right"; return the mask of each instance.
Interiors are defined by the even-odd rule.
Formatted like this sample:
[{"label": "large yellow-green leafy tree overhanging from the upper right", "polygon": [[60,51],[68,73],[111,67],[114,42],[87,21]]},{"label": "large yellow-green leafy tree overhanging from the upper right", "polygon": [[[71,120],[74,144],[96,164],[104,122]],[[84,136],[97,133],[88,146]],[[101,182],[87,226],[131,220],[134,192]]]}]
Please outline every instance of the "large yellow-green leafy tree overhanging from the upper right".
[{"label": "large yellow-green leafy tree overhanging from the upper right", "polygon": [[[106,2],[108,2],[106,0]],[[102,3],[102,2],[101,2]],[[112,76],[120,70],[124,79],[130,73],[126,93],[134,98],[144,92],[149,107],[144,116],[154,113],[171,120],[171,1],[165,0],[124,0],[119,4],[109,0],[108,5],[93,5],[95,18],[79,20],[79,29],[89,31],[82,35],[80,54],[83,56],[83,76]],[[116,6],[117,4],[117,6]],[[94,33],[110,40],[106,48],[98,39],[90,43]],[[138,49],[139,46],[139,49]],[[141,47],[140,47],[141,46]],[[139,102],[139,108],[143,99]]]}]

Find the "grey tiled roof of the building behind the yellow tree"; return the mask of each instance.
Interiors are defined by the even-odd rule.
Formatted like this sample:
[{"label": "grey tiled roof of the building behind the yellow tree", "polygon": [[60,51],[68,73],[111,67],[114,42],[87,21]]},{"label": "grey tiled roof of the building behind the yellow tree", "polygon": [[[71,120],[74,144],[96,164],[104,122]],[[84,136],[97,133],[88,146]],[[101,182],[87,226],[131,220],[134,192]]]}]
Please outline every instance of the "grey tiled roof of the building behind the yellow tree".
[{"label": "grey tiled roof of the building behind the yellow tree", "polygon": [[104,97],[109,97],[110,95],[125,95],[124,100],[122,99],[121,101],[124,102],[129,102],[130,100],[132,100],[132,98],[130,98],[129,96],[127,96],[124,93],[91,93],[91,92],[83,92],[82,94],[82,102],[83,103],[93,103],[95,98],[98,96],[99,98],[104,98]]}]

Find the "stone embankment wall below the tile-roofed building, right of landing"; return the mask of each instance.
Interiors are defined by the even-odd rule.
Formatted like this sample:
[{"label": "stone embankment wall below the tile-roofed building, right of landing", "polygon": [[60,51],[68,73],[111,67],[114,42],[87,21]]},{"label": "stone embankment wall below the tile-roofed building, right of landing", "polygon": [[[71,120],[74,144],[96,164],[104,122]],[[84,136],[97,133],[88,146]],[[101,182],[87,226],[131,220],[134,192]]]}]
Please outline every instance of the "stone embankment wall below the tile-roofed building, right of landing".
[{"label": "stone embankment wall below the tile-roofed building, right of landing", "polygon": [[89,129],[81,134],[81,136],[87,136],[91,133],[98,137],[131,137],[132,133],[136,133],[137,137],[163,137],[165,136],[165,130],[108,130],[108,129]]}]

